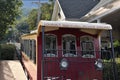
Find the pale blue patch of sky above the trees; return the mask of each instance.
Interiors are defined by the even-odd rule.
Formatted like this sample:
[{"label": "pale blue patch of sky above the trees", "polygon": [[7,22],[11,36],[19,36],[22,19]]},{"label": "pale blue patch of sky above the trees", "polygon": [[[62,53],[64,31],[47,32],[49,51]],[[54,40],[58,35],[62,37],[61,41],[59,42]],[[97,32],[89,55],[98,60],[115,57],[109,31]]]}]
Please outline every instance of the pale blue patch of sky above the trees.
[{"label": "pale blue patch of sky above the trees", "polygon": [[[22,0],[23,8],[38,8],[39,0]],[[48,0],[40,0],[40,2],[47,2]]]}]

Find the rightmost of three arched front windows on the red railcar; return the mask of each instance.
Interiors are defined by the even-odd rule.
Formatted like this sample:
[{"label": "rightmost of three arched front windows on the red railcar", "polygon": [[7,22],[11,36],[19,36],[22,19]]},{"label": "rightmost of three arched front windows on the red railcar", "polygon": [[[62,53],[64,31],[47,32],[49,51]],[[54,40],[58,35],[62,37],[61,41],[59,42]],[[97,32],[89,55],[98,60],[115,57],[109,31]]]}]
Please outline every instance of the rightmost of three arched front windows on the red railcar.
[{"label": "rightmost of three arched front windows on the red railcar", "polygon": [[83,58],[94,58],[94,39],[91,36],[83,36],[80,38],[82,57]]}]

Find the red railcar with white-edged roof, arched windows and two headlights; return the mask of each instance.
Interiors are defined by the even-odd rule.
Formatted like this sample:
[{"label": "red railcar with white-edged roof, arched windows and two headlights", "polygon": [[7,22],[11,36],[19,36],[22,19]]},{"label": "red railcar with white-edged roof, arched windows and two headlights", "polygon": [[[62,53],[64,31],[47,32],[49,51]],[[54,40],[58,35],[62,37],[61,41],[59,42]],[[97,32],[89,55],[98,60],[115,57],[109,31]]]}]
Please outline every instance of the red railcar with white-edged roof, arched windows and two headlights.
[{"label": "red railcar with white-edged roof, arched windows and two headlights", "polygon": [[[100,36],[104,30],[111,32],[111,25],[40,21],[35,32],[21,37],[30,80],[102,80]],[[35,64],[35,75],[26,66],[27,56]]]}]

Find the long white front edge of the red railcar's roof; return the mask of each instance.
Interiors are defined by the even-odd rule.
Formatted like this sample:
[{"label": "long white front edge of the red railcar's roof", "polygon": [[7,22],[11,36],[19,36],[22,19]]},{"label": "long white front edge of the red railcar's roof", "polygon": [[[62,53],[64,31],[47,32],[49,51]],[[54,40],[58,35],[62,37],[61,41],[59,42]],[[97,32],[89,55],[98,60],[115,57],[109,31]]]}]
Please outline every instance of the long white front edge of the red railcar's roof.
[{"label": "long white front edge of the red railcar's roof", "polygon": [[61,28],[82,28],[82,29],[97,29],[111,30],[112,26],[102,23],[74,22],[74,21],[40,21],[38,27],[61,27]]}]

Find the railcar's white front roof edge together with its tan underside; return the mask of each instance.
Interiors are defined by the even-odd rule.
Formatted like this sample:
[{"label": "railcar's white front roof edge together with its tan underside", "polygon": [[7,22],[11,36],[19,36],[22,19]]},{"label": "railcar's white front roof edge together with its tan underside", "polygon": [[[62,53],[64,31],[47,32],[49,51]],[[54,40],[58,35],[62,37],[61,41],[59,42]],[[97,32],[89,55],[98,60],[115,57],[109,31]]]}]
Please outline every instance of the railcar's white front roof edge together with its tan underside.
[{"label": "railcar's white front roof edge together with its tan underside", "polygon": [[42,26],[46,31],[54,31],[59,28],[76,28],[89,34],[99,34],[103,30],[111,30],[112,26],[102,23],[74,22],[74,21],[40,21],[37,35],[42,32]]}]

